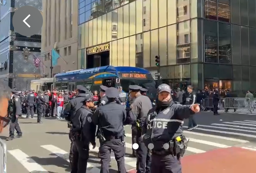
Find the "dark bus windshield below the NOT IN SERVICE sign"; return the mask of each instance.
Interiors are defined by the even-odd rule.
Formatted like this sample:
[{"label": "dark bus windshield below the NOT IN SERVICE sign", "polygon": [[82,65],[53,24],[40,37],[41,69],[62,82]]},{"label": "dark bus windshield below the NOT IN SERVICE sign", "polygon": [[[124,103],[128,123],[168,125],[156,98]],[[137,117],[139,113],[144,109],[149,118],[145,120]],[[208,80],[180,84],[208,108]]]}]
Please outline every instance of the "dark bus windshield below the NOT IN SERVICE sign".
[{"label": "dark bus windshield below the NOT IN SERVICE sign", "polygon": [[154,80],[147,79],[121,79],[121,87],[123,91],[129,93],[129,85],[139,85],[148,90],[147,95],[150,99],[156,99],[156,86]]}]

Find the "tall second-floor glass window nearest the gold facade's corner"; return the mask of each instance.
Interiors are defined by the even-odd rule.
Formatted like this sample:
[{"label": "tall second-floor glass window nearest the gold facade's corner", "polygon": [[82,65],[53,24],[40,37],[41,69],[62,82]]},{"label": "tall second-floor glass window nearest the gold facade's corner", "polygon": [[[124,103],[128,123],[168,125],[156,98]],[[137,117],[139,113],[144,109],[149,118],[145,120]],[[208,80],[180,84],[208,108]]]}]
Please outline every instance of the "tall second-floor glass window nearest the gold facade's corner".
[{"label": "tall second-floor glass window nearest the gold facade's corner", "polygon": [[205,62],[218,62],[217,22],[204,20]]}]

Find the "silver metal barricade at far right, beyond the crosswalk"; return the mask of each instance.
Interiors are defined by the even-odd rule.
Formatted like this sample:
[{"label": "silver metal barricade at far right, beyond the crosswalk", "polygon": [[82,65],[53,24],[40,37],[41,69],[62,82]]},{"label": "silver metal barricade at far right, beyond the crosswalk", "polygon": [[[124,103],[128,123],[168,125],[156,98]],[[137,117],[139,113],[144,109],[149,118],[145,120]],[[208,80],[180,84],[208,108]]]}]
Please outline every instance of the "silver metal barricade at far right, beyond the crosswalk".
[{"label": "silver metal barricade at far right, beyond the crosswalk", "polygon": [[225,98],[225,109],[247,109],[252,113],[253,102],[249,98]]}]

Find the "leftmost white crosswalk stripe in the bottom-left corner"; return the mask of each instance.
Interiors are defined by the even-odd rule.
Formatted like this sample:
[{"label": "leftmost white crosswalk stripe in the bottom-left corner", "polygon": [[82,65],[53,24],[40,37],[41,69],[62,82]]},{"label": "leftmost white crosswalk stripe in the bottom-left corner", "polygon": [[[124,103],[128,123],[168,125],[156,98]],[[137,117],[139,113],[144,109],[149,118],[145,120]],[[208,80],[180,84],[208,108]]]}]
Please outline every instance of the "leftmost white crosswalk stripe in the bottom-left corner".
[{"label": "leftmost white crosswalk stripe in the bottom-left corner", "polygon": [[48,173],[41,165],[36,163],[31,157],[23,153],[19,149],[8,151],[15,159],[17,159],[29,172],[44,172]]}]

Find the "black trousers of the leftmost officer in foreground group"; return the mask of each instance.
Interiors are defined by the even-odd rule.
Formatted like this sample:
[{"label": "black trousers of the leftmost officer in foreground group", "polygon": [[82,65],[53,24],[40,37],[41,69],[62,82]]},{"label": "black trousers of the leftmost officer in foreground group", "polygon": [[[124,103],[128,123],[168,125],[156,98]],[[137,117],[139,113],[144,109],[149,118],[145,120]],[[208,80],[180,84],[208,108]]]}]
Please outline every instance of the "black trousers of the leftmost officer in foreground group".
[{"label": "black trousers of the leftmost officer in foreground group", "polygon": [[87,161],[89,158],[89,144],[83,141],[74,141],[74,157],[71,173],[86,173]]}]

